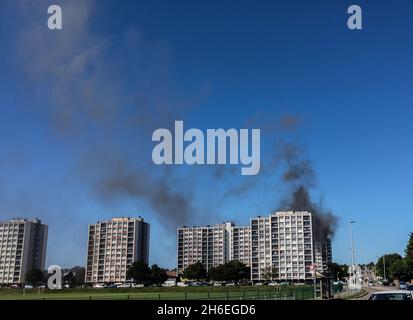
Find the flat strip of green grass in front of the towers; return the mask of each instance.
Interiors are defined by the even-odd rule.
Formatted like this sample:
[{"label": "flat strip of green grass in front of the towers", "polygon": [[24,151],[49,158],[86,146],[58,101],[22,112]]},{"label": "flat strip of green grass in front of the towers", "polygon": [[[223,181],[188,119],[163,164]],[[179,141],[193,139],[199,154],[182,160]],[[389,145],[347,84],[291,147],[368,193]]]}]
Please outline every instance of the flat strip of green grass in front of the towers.
[{"label": "flat strip of green grass in front of the towers", "polygon": [[304,300],[312,286],[186,287],[136,289],[0,289],[0,300]]}]

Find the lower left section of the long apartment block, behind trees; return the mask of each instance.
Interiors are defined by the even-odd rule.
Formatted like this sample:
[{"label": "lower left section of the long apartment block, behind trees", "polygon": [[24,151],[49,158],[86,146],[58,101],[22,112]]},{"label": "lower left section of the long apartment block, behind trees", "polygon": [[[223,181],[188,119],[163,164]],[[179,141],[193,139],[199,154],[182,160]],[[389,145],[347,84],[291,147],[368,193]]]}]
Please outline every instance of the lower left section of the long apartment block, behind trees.
[{"label": "lower left section of the long apartment block, behind trees", "polygon": [[250,229],[231,222],[178,229],[178,273],[201,262],[207,271],[231,260],[250,262]]}]

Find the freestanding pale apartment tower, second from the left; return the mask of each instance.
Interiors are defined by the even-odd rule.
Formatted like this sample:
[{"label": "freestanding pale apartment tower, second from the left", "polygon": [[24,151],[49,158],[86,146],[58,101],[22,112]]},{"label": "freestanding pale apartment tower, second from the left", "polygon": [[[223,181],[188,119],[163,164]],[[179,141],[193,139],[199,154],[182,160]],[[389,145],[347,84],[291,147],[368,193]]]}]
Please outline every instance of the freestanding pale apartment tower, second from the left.
[{"label": "freestanding pale apartment tower, second from the left", "polygon": [[139,218],[113,218],[89,225],[85,281],[124,282],[135,261],[149,261],[150,225]]}]

